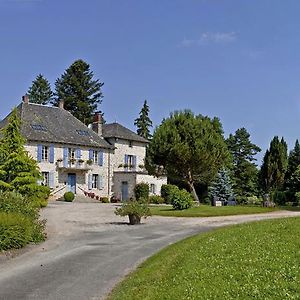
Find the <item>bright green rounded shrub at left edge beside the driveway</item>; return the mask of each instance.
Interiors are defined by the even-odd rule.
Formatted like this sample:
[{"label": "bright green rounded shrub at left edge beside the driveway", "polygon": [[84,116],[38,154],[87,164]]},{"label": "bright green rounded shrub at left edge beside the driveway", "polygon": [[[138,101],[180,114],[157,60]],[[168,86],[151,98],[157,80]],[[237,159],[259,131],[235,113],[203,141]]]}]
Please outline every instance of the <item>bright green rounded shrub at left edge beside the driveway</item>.
[{"label": "bright green rounded shrub at left edge beside the driveway", "polygon": [[18,249],[32,240],[33,223],[20,213],[0,213],[0,250]]}]

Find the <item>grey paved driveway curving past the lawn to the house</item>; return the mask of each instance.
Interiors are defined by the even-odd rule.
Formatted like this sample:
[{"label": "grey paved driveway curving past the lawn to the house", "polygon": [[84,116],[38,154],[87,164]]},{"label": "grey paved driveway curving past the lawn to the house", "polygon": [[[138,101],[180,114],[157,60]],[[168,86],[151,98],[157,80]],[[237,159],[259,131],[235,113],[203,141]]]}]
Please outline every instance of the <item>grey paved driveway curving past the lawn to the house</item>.
[{"label": "grey paved driveway curving past the lawn to the house", "polygon": [[264,215],[152,217],[139,226],[113,214],[114,205],[51,203],[43,210],[48,240],[13,259],[0,260],[0,299],[104,299],[112,287],[145,258],[184,237]]}]

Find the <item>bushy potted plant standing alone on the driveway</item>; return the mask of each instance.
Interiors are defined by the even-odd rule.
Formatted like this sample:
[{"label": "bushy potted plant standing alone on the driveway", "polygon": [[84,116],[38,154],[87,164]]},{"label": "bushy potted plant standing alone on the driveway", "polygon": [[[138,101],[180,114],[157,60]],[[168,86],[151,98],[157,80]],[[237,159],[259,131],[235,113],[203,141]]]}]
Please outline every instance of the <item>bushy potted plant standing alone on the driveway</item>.
[{"label": "bushy potted plant standing alone on the driveway", "polygon": [[151,215],[146,201],[129,200],[124,202],[121,207],[116,208],[115,214],[118,216],[128,216],[129,224],[135,225],[141,223],[141,218],[147,218]]}]

